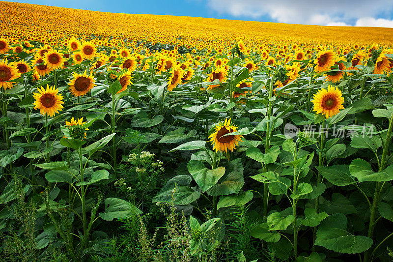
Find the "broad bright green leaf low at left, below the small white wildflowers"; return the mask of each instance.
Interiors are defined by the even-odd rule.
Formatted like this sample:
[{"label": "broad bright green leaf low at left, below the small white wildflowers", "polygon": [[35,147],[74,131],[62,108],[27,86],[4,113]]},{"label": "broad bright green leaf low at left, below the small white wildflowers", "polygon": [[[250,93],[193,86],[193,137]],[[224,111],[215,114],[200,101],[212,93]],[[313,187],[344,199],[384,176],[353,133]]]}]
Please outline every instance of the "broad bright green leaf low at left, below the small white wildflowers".
[{"label": "broad bright green leaf low at left, below the small white wildflowers", "polygon": [[105,200],[105,212],[100,213],[100,217],[106,221],[111,221],[114,218],[123,219],[140,215],[141,213],[142,211],[128,201],[118,198],[107,198]]}]

